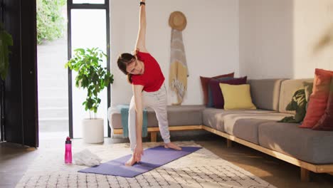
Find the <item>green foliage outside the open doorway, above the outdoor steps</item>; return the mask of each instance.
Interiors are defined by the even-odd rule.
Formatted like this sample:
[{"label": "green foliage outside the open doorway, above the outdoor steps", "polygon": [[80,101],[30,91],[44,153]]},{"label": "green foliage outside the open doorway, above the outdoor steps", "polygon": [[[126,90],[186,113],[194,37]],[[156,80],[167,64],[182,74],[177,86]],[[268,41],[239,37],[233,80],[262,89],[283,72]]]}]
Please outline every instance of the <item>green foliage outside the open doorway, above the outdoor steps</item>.
[{"label": "green foliage outside the open doorway, above the outdoor steps", "polygon": [[66,0],[37,0],[37,43],[53,41],[63,36],[65,30],[61,8]]}]

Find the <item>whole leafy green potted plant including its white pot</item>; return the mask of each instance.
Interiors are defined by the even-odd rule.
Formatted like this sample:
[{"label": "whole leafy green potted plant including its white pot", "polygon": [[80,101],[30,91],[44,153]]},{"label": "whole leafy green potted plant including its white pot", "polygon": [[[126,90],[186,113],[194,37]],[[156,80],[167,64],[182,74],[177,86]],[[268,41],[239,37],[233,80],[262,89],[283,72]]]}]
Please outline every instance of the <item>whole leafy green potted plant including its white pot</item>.
[{"label": "whole leafy green potted plant including its white pot", "polygon": [[87,90],[83,106],[85,111],[89,111],[90,118],[83,120],[83,141],[100,143],[104,141],[104,120],[96,117],[101,101],[98,94],[113,83],[113,75],[100,65],[102,58],[107,58],[100,49],[78,48],[74,52],[75,55],[65,64],[65,68],[76,71],[75,86]]}]

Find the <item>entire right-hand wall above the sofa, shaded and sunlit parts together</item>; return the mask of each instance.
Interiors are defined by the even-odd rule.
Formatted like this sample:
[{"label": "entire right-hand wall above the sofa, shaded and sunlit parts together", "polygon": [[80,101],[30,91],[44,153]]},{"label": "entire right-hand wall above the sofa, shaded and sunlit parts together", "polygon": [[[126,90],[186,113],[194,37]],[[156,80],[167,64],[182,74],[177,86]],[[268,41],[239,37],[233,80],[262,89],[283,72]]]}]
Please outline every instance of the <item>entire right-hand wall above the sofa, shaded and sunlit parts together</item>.
[{"label": "entire right-hand wall above the sofa, shaded and sunlit parts together", "polygon": [[240,74],[249,78],[313,78],[333,69],[332,48],[313,53],[333,23],[333,0],[240,0]]}]

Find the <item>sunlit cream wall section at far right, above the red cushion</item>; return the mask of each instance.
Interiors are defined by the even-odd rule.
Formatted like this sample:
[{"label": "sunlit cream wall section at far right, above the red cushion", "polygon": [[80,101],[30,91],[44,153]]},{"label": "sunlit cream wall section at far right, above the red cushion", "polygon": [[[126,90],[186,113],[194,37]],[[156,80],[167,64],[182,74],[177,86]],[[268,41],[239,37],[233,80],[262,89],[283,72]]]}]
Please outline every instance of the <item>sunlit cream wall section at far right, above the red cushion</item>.
[{"label": "sunlit cream wall section at far right, above the red cushion", "polygon": [[320,53],[313,51],[332,24],[333,0],[294,0],[295,78],[313,78],[314,68],[333,70],[332,47]]}]

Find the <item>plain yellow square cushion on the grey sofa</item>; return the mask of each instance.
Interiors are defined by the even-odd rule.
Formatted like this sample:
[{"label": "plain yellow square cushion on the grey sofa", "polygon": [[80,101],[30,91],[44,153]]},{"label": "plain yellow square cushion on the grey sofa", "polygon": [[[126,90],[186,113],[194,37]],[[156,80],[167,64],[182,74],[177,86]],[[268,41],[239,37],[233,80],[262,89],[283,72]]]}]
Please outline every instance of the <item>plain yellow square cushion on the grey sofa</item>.
[{"label": "plain yellow square cushion on the grey sofa", "polygon": [[220,83],[224,99],[224,109],[257,109],[252,103],[250,85],[230,85]]}]

